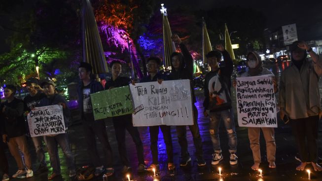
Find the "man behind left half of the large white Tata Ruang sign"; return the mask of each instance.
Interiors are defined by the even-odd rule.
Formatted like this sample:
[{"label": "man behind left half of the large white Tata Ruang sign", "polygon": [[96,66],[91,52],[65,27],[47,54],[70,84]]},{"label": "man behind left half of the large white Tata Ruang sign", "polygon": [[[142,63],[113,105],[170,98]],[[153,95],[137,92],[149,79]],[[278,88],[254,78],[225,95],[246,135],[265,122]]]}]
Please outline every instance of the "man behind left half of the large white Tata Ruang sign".
[{"label": "man behind left half of the large white Tata Ruang sign", "polygon": [[[145,76],[141,79],[140,83],[145,82],[156,82],[160,84],[163,80],[167,80],[167,77],[164,74],[159,72],[159,67],[161,64],[161,59],[158,57],[149,57],[146,62],[146,68],[148,76]],[[160,170],[159,161],[158,161],[158,138],[159,138],[159,129],[163,134],[164,143],[166,144],[167,156],[168,156],[168,170],[175,170],[175,165],[173,163],[173,146],[172,146],[172,136],[171,136],[171,126],[160,125],[160,126],[150,126],[150,149],[152,154],[152,164],[147,168],[148,171],[152,172],[155,169],[157,172]]]}]

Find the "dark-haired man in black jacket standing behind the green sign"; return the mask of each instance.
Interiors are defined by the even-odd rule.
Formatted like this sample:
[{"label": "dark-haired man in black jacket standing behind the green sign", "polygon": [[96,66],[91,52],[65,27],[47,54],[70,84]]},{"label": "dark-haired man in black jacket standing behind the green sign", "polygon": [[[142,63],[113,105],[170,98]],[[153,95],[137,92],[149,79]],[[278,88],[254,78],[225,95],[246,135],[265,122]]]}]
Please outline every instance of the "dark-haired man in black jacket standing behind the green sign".
[{"label": "dark-haired man in black jacket standing behind the green sign", "polygon": [[[109,64],[109,67],[112,69],[112,77],[105,84],[105,90],[119,88],[123,86],[128,86],[131,82],[131,79],[127,77],[120,77],[122,72],[122,64],[119,61],[112,61]],[[125,144],[125,130],[129,132],[132,136],[132,139],[137,148],[139,167],[138,172],[144,172],[145,163],[143,156],[143,143],[141,141],[140,133],[137,127],[133,126],[132,123],[132,114],[116,116],[112,118],[113,125],[115,129],[116,140],[118,144],[118,152],[121,157],[122,164],[124,165],[122,168],[122,173],[125,174],[131,169],[130,161],[126,152],[126,144]]]}]

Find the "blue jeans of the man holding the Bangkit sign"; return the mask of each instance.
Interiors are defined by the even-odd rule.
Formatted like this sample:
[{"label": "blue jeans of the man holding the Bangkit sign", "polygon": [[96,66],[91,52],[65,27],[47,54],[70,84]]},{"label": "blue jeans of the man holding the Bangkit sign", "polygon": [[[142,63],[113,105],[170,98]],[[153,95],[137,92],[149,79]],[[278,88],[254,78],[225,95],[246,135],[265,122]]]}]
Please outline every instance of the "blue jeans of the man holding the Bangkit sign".
[{"label": "blue jeans of the man holding the Bangkit sign", "polygon": [[68,169],[75,170],[74,155],[72,154],[68,134],[59,134],[57,136],[45,136],[47,143],[47,149],[49,154],[49,160],[51,167],[53,168],[53,173],[60,173],[60,160],[58,155],[58,144],[62,148],[63,153],[66,157],[66,163]]}]

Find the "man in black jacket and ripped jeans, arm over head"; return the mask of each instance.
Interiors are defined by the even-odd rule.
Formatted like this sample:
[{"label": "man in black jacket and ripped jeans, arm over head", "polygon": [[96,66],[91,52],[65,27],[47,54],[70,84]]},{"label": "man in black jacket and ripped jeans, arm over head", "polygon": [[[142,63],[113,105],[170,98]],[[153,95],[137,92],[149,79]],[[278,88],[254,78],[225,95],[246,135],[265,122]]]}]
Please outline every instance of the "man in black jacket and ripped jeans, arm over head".
[{"label": "man in black jacket and ripped jeans, arm over head", "polygon": [[[235,131],[235,120],[233,117],[231,99],[230,99],[230,87],[231,87],[231,75],[233,73],[233,61],[229,56],[229,53],[224,49],[222,45],[216,45],[214,51],[207,53],[206,57],[208,64],[211,67],[211,72],[209,72],[205,77],[205,100],[204,100],[204,115],[210,117],[209,132],[213,142],[213,160],[212,165],[217,165],[222,159],[220,141],[219,141],[219,123],[220,119],[223,120],[227,135],[228,135],[228,145],[230,153],[230,164],[235,165],[238,163],[236,156],[237,151],[237,136]],[[221,55],[224,59],[224,66],[219,67],[219,61],[221,60]],[[219,82],[216,82],[219,81]],[[220,85],[220,90],[215,90]],[[211,91],[210,91],[211,90]],[[223,93],[225,96],[221,103],[216,102],[219,96],[214,96],[213,94]]]}]

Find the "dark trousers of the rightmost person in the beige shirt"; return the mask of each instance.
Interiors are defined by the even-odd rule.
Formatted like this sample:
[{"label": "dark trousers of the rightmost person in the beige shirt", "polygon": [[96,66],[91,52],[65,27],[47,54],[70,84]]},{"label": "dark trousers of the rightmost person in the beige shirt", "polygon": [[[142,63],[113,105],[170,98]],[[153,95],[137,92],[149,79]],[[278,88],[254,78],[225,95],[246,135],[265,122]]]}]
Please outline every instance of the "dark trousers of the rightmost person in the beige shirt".
[{"label": "dark trousers of the rightmost person in the beige shirt", "polygon": [[319,120],[319,116],[290,120],[302,162],[318,161]]}]

